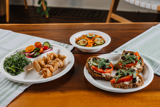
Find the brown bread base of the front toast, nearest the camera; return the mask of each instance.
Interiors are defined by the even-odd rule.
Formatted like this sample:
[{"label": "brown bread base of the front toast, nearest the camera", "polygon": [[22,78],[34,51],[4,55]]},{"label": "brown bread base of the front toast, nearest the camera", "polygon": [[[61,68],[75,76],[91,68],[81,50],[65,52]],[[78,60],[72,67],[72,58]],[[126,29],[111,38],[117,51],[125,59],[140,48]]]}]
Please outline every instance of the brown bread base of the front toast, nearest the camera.
[{"label": "brown bread base of the front toast, nearest the camera", "polygon": [[114,88],[123,88],[123,89],[136,88],[136,87],[142,86],[144,84],[144,80],[143,80],[142,76],[140,76],[139,74],[137,74],[137,76],[139,77],[139,80],[136,83],[133,83],[132,81],[130,81],[129,84],[126,84],[126,83],[111,83],[111,85]]}]

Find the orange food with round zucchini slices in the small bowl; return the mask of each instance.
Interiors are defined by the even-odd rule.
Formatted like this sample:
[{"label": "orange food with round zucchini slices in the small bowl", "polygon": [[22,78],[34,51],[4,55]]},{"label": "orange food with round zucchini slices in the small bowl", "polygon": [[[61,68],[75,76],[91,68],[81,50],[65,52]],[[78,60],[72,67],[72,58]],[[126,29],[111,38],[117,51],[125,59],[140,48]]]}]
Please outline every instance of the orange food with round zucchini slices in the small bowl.
[{"label": "orange food with round zucchini slices in the small bowl", "polygon": [[83,47],[95,47],[105,43],[105,40],[102,38],[102,36],[95,35],[93,33],[82,35],[81,37],[75,39],[76,44]]}]

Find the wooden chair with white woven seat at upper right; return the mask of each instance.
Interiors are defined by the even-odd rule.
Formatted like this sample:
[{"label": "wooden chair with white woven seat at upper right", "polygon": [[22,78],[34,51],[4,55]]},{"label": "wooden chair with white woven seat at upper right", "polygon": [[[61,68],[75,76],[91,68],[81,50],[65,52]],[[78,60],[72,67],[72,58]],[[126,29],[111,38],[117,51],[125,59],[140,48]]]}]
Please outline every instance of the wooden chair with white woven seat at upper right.
[{"label": "wooden chair with white woven seat at upper right", "polygon": [[[119,4],[119,1],[120,0],[112,0],[106,23],[111,22],[111,18],[114,20],[117,20],[121,23],[133,23],[130,20],[125,19],[125,18],[115,14],[117,7],[118,7],[118,4]],[[143,7],[143,8],[157,10],[160,13],[160,1],[159,1],[159,5],[151,3],[151,0],[150,0],[150,2],[149,2],[149,0],[146,0],[145,2],[144,2],[144,0],[142,2],[141,2],[141,0],[125,0],[125,1],[129,2],[131,4]],[[152,0],[152,1],[154,1],[154,0]],[[158,0],[157,0],[157,2],[158,2]]]}]

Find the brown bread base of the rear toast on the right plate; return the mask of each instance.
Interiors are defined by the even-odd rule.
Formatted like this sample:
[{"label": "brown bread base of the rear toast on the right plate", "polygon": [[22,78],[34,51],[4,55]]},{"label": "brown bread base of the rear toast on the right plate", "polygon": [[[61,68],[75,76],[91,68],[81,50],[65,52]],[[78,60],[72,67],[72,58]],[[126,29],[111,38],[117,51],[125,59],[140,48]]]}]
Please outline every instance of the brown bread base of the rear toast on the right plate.
[{"label": "brown bread base of the rear toast on the right plate", "polygon": [[[133,52],[133,51],[123,51],[123,53],[122,53],[122,55],[124,54],[124,53],[135,53],[135,52]],[[121,55],[121,57],[122,57],[122,55]],[[121,60],[121,59],[120,59]],[[120,61],[119,60],[119,61]],[[117,69],[117,70],[119,70],[119,69],[130,69],[130,68],[133,68],[133,69],[135,69],[138,73],[140,73],[140,72],[142,72],[143,71],[143,68],[144,68],[144,61],[143,61],[143,58],[140,56],[140,60],[141,60],[141,65],[138,65],[138,67],[137,67],[137,65],[134,65],[134,66],[131,66],[131,67],[122,67],[121,65],[119,65],[118,63],[117,64],[115,64],[114,65],[114,68],[115,69]],[[119,62],[118,61],[118,62]]]}]

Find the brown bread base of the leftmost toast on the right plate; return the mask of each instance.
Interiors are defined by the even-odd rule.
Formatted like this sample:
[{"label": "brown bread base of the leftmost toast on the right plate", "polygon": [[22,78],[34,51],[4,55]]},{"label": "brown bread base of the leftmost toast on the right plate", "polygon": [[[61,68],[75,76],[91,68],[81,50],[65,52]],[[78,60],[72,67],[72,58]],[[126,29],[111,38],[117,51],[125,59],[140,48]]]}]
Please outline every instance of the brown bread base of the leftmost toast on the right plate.
[{"label": "brown bread base of the leftmost toast on the right plate", "polygon": [[104,74],[102,74],[102,73],[100,73],[100,72],[94,71],[94,70],[91,68],[91,66],[90,66],[90,64],[88,63],[88,61],[91,60],[92,58],[100,59],[100,58],[97,57],[97,56],[89,57],[89,58],[87,59],[86,69],[88,70],[89,74],[90,74],[94,79],[101,79],[101,80],[106,80],[106,81],[111,80],[111,79],[113,78],[113,77],[111,76],[111,73],[112,73],[112,72],[110,72],[108,75],[104,75]]}]

